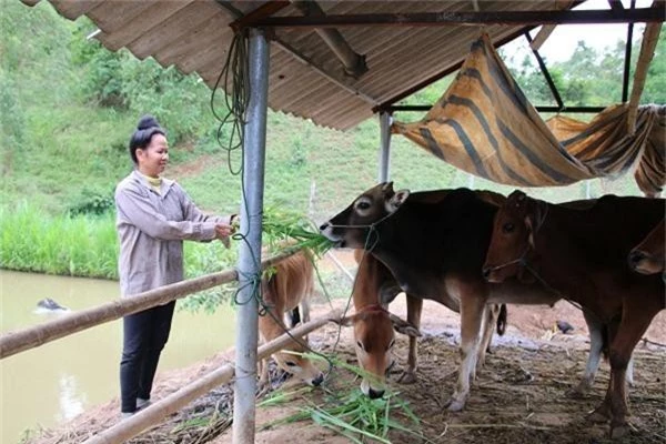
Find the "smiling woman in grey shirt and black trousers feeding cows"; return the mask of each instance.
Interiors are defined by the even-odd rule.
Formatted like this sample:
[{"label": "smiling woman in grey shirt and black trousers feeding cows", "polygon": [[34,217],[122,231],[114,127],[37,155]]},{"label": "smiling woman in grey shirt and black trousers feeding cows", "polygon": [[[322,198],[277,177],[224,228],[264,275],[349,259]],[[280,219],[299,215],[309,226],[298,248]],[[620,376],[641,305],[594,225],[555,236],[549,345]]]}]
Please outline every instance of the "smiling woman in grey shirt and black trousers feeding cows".
[{"label": "smiling woman in grey shirt and black trousers feeding cows", "polygon": [[[134,170],[115,189],[122,296],[183,279],[183,240],[219,239],[229,246],[232,216],[204,215],[185,191],[161,173],[169,161],[165,132],[143,117],[130,139]],[[160,353],[169,339],[175,301],[123,319],[120,362],[122,416],[150,403]]]}]

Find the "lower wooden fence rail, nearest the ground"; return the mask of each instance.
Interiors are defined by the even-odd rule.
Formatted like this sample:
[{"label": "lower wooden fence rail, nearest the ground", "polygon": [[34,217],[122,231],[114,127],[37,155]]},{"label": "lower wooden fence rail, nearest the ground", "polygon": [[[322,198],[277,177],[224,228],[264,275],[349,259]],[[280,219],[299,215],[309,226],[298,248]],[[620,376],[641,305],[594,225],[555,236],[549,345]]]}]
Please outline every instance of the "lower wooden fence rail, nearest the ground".
[{"label": "lower wooden fence rail, nearest the ground", "polygon": [[[290,331],[294,336],[304,336],[307,333],[321,327],[325,323],[340,319],[340,313],[335,310],[329,314],[312,320],[303,325]],[[266,357],[279,350],[282,350],[289,342],[291,336],[286,333],[280,337],[262,345],[256,352],[258,360]],[[195,382],[182,387],[178,392],[170,394],[161,401],[151,404],[144,410],[137,412],[129,418],[113,425],[90,437],[84,444],[118,444],[137,436],[139,433],[149,428],[154,424],[159,424],[165,416],[178,412],[180,408],[188,405],[195,398],[206,394],[218,385],[226,384],[234,375],[233,364],[226,364],[208,375],[196,380]]]}]

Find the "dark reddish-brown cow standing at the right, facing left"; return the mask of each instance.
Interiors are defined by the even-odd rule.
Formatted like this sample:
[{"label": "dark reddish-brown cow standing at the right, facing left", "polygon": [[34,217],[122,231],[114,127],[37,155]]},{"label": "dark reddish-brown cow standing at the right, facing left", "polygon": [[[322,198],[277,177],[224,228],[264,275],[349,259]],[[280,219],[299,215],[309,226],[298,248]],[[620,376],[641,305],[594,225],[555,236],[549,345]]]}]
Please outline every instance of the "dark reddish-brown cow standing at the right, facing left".
[{"label": "dark reddish-brown cow standing at the right, facing left", "polygon": [[632,248],[664,218],[662,199],[607,195],[573,209],[515,191],[497,212],[483,274],[490,282],[531,275],[608,327],[610,381],[591,415],[628,431],[625,372],[636,343],[666,307],[664,282],[627,266]]}]

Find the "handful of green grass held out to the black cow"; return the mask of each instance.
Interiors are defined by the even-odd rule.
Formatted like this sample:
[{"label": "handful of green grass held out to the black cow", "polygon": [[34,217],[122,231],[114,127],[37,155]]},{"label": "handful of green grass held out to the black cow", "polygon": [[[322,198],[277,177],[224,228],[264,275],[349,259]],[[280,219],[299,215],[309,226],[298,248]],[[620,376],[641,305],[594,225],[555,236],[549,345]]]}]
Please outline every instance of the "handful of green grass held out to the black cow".
[{"label": "handful of green grass held out to the black cow", "polygon": [[334,245],[334,242],[320,234],[315,224],[304,215],[276,208],[264,209],[263,233],[271,246],[286,241],[290,246],[309,249],[317,256]]}]

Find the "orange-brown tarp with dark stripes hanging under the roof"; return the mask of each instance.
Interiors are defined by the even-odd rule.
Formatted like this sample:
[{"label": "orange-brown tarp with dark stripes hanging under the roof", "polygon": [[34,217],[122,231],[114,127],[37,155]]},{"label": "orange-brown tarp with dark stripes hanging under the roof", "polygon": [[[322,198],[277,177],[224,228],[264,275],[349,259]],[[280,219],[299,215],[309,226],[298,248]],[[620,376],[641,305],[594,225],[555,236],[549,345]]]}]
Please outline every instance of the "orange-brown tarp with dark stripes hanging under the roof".
[{"label": "orange-brown tarp with dark stripes hanging under the roof", "polygon": [[566,185],[635,167],[640,190],[657,194],[665,183],[666,107],[639,107],[633,135],[626,119],[627,105],[620,104],[589,123],[562,115],[544,122],[484,34],[425,118],[395,122],[392,131],[498,183]]}]

